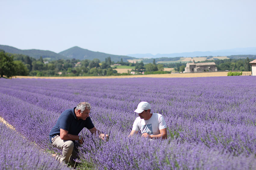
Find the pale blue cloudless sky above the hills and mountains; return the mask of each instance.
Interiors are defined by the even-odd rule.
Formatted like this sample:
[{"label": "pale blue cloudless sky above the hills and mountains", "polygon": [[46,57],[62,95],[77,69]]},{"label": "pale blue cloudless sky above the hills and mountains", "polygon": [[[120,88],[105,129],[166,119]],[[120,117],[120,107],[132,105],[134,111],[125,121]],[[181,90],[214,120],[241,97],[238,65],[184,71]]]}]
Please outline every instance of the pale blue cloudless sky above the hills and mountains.
[{"label": "pale blue cloudless sky above the hills and mountains", "polygon": [[255,0],[1,0],[0,44],[115,55],[256,47]]}]

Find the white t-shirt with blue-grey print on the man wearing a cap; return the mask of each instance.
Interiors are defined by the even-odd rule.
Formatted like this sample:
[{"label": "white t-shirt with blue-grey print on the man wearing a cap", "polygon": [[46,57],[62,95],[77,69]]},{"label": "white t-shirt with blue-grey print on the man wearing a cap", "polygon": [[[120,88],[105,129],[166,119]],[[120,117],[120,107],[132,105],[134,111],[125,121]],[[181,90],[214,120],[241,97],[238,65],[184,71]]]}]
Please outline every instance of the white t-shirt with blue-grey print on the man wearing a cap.
[{"label": "white t-shirt with blue-grey print on the man wearing a cap", "polygon": [[149,135],[158,135],[160,130],[166,128],[166,123],[162,115],[151,113],[152,116],[148,120],[137,117],[133,123],[133,130],[148,133]]}]

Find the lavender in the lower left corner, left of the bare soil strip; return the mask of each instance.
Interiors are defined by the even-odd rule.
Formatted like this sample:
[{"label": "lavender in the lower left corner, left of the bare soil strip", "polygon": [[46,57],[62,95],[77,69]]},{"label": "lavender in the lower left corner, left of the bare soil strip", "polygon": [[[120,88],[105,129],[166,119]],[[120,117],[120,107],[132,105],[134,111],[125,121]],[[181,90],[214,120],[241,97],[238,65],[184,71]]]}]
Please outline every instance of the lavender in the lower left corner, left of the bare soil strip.
[{"label": "lavender in the lower left corner, left of the bare soil strip", "polygon": [[0,122],[0,146],[0,169],[2,170],[69,169],[2,122]]}]

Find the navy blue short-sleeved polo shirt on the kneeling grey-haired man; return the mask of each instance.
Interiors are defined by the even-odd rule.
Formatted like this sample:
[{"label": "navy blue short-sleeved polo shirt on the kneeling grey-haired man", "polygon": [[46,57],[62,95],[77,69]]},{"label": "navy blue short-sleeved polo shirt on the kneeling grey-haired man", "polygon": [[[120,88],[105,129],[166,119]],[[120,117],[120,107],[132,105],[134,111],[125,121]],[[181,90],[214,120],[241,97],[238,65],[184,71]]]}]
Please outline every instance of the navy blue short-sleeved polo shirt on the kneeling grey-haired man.
[{"label": "navy blue short-sleeved polo shirt on the kneeling grey-haired man", "polygon": [[51,143],[54,136],[60,135],[60,129],[67,130],[71,135],[78,135],[84,127],[87,129],[94,128],[90,117],[86,118],[85,121],[83,119],[77,120],[75,109],[67,109],[61,113],[57,123],[50,131],[49,138]]}]

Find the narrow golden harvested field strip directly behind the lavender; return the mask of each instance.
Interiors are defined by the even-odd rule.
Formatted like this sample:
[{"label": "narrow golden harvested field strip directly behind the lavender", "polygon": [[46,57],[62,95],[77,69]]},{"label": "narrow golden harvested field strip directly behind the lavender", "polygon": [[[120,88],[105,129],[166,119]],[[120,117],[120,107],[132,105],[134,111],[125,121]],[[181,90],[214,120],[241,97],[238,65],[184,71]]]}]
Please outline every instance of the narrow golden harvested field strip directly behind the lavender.
[{"label": "narrow golden harvested field strip directly behind the lavender", "polygon": [[[208,72],[208,73],[172,73],[172,74],[147,74],[129,76],[74,76],[74,77],[36,77],[36,76],[15,76],[19,79],[115,79],[134,77],[154,77],[154,78],[174,78],[174,77],[219,77],[227,76],[228,72]],[[251,75],[250,71],[243,72],[243,76]]]}]

